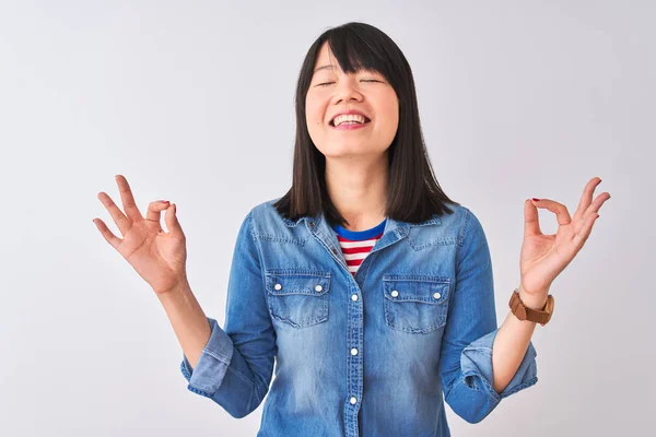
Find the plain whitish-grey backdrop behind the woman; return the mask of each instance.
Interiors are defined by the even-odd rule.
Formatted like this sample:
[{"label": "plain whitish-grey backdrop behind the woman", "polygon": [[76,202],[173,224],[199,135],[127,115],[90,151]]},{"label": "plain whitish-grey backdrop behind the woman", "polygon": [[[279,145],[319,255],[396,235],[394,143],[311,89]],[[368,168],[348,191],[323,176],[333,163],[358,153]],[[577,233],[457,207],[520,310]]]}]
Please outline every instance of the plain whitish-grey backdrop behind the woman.
[{"label": "plain whitish-grey backdrop behind the woman", "polygon": [[115,0],[0,2],[1,435],[256,434],[261,405],[236,420],[187,390],[161,304],[92,222],[120,235],[96,196],[118,203],[122,174],[142,210],[178,205],[191,287],[223,323],[238,225],[291,184],[303,57],[349,21],[412,67],[437,180],[485,229],[499,323],[524,200],[574,214],[594,176],[612,196],[552,286],[538,383],[477,425],[447,409],[453,435],[649,434],[656,3]]}]

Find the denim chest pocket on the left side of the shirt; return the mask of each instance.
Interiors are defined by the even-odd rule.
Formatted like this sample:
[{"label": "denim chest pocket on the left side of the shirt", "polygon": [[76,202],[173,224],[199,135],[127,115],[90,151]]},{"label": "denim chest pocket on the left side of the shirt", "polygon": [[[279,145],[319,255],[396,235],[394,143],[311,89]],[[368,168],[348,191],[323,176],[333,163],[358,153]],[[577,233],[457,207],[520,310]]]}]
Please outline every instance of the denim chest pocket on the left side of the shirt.
[{"label": "denim chest pocket on the left side of the shirt", "polygon": [[294,328],[328,320],[330,272],[269,271],[266,288],[274,319]]}]

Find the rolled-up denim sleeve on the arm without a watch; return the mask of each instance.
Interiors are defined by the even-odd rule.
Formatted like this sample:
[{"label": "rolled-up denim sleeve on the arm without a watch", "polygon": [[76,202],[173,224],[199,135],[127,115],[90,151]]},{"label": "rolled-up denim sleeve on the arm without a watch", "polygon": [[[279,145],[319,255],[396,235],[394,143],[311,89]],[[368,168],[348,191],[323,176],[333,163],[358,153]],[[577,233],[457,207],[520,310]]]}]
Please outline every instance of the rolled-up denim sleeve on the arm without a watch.
[{"label": "rolled-up denim sleeve on the arm without a watch", "polygon": [[212,399],[233,417],[255,411],[269,391],[277,354],[259,251],[253,236],[253,210],[239,228],[231,264],[225,328],[208,317],[211,334],[196,367],[183,353],[187,388]]}]

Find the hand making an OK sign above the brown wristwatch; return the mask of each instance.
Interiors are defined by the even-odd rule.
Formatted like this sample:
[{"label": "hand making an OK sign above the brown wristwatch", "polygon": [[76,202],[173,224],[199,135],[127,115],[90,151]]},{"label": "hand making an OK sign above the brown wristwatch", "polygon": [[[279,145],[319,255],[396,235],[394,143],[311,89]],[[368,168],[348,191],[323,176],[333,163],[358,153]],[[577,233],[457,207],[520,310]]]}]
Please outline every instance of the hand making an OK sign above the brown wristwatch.
[{"label": "hand making an OK sign above the brown wristwatch", "polygon": [[[593,225],[599,217],[599,208],[610,199],[608,192],[602,192],[593,202],[593,193],[599,182],[601,179],[598,177],[587,182],[573,218],[564,204],[550,199],[527,200],[524,203],[519,295],[526,306],[542,308],[551,283],[574,259],[590,235]],[[540,231],[538,208],[555,214],[559,225],[555,235],[543,235]]]}]

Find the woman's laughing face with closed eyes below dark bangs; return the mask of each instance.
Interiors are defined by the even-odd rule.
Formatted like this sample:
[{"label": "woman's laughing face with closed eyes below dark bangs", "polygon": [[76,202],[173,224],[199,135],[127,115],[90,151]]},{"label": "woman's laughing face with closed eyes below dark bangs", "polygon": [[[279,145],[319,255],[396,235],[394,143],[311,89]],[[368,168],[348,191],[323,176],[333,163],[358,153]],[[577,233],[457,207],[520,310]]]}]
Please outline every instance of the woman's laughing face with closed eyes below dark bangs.
[{"label": "woman's laughing face with closed eyes below dark bangs", "polygon": [[[335,116],[349,109],[363,114],[365,123],[333,126]],[[383,74],[345,74],[325,43],[305,98],[305,117],[312,141],[326,157],[380,154],[396,135],[399,103]]]}]

